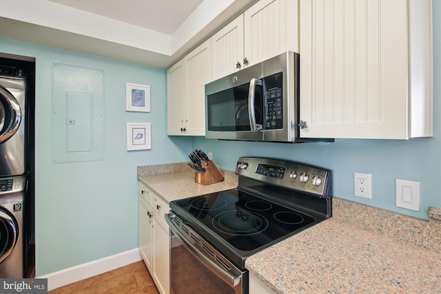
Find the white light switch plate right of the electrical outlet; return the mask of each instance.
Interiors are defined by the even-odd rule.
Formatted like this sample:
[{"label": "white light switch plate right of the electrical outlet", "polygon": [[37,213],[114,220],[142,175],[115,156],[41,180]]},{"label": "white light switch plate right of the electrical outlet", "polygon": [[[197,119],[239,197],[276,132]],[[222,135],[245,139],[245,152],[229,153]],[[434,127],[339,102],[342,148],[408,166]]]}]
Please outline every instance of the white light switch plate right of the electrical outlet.
[{"label": "white light switch plate right of the electrical outlet", "polygon": [[420,210],[420,182],[396,180],[396,205],[411,210]]}]

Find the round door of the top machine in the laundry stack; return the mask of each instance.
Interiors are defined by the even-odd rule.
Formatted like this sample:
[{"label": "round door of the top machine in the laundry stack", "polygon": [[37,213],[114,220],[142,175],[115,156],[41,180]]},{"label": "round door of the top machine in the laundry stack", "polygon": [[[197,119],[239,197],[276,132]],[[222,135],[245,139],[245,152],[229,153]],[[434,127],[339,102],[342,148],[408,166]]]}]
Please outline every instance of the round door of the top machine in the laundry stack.
[{"label": "round door of the top machine in the laundry stack", "polygon": [[14,95],[0,85],[0,144],[14,136],[20,123],[19,102]]}]

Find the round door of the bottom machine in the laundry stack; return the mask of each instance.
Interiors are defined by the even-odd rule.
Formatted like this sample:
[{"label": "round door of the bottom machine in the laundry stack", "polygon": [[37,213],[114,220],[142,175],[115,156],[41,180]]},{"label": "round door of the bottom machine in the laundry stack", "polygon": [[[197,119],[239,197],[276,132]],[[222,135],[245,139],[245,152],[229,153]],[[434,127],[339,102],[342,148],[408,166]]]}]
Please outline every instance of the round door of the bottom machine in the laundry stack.
[{"label": "round door of the bottom machine in the laundry stack", "polygon": [[14,218],[0,208],[0,263],[6,260],[19,238],[19,227]]}]

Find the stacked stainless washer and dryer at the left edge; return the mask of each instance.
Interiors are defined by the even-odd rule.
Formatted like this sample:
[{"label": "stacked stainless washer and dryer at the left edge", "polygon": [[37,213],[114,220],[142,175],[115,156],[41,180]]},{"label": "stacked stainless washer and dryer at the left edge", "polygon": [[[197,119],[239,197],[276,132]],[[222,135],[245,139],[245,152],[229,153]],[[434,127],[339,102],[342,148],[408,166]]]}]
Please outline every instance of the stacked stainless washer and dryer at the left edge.
[{"label": "stacked stainless washer and dryer at the left edge", "polygon": [[[29,277],[26,269],[33,201],[27,199],[32,168],[29,153],[28,72],[0,65],[0,277]],[[29,235],[29,234],[28,234]]]}]

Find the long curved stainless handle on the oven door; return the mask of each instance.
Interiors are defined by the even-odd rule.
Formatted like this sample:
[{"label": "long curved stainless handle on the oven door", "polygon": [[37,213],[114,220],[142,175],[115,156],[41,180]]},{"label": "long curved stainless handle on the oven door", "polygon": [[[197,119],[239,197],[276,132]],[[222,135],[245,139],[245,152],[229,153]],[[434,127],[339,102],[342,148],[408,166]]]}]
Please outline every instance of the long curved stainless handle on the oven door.
[{"label": "long curved stainless handle on the oven door", "polygon": [[205,256],[200,250],[198,250],[196,246],[194,246],[194,244],[187,240],[185,235],[183,235],[183,233],[181,233],[181,231],[179,231],[175,227],[172,220],[170,220],[170,216],[168,214],[165,214],[165,221],[170,227],[170,230],[172,230],[172,232],[178,236],[178,238],[183,242],[188,251],[192,253],[194,257],[197,258],[200,262],[202,262],[202,264],[204,264],[208,269],[214,271],[214,273],[224,282],[229,284],[229,286],[232,286],[234,288],[240,284],[242,280],[242,273],[239,272],[238,275],[232,275],[229,272],[225,271],[225,269],[222,269],[220,266],[214,263],[214,261],[207,258],[207,256]]}]

